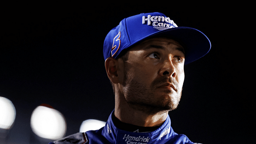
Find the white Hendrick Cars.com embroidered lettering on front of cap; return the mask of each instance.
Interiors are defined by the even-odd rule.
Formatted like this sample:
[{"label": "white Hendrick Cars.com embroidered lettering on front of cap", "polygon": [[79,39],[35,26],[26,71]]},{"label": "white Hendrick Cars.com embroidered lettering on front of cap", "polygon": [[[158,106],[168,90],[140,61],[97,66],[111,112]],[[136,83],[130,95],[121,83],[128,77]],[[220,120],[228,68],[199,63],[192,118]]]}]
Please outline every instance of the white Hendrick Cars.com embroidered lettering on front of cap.
[{"label": "white Hendrick Cars.com embroidered lettering on front of cap", "polygon": [[169,17],[164,17],[164,16],[148,15],[147,18],[146,18],[146,16],[142,16],[142,24],[146,24],[146,21],[148,21],[148,26],[150,26],[151,22],[152,22],[152,26],[154,26],[154,28],[156,28],[158,30],[166,30],[166,29],[169,29],[169,28],[178,27],[173,22],[173,20],[170,20]]}]

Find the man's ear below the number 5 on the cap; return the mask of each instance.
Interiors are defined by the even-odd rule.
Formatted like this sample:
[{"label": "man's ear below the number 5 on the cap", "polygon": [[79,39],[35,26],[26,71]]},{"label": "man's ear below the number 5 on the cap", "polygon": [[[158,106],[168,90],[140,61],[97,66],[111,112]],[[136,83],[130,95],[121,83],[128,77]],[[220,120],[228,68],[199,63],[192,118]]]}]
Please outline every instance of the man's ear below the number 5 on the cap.
[{"label": "man's ear below the number 5 on the cap", "polygon": [[114,84],[117,84],[118,74],[117,74],[118,61],[112,57],[109,57],[105,60],[105,68],[108,74],[108,78]]}]

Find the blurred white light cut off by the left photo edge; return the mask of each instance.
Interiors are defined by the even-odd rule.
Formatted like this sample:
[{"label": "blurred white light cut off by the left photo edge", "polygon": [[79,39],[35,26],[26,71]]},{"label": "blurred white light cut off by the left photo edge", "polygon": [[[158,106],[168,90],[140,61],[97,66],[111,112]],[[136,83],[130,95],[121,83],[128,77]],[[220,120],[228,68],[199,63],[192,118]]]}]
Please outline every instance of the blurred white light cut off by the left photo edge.
[{"label": "blurred white light cut off by the left photo edge", "polygon": [[10,129],[16,117],[16,110],[10,100],[0,96],[0,128]]}]

